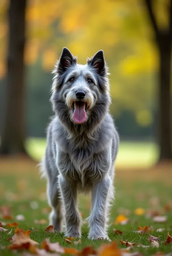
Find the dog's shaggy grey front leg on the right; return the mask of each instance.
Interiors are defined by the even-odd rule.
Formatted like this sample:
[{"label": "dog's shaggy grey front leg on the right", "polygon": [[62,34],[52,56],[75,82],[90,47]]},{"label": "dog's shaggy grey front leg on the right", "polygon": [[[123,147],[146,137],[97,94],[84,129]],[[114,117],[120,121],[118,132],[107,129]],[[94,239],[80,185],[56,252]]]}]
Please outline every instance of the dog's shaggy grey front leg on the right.
[{"label": "dog's shaggy grey front leg on the right", "polygon": [[93,184],[92,211],[88,218],[90,239],[109,239],[106,233],[107,207],[112,182],[109,176]]}]

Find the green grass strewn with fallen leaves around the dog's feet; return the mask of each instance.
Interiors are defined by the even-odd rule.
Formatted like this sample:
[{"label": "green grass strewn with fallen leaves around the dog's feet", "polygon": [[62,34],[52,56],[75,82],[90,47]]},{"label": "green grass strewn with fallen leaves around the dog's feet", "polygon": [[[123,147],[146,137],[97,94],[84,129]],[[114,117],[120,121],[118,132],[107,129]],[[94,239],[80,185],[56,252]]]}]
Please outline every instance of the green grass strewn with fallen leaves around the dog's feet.
[{"label": "green grass strewn with fallen leaves around the dog's feet", "polygon": [[[4,160],[5,161],[5,160]],[[87,223],[82,226],[82,243],[78,245],[67,244],[64,240],[64,233],[46,233],[45,228],[48,226],[48,214],[44,213],[48,207],[46,200],[46,182],[39,178],[38,170],[28,162],[15,162],[9,160],[4,164],[0,161],[0,206],[11,206],[13,220],[15,216],[22,214],[25,216],[24,221],[18,221],[19,228],[36,229],[31,232],[31,239],[41,242],[49,237],[51,242],[59,242],[64,247],[75,247],[81,249],[88,245],[94,245],[98,248],[103,242],[90,241],[87,239],[88,227]],[[171,167],[169,167],[171,169]],[[140,235],[133,231],[138,230],[140,226],[153,226],[154,230],[151,235],[160,236],[159,248],[141,248],[135,247],[134,251],[139,251],[145,256],[153,255],[157,251],[164,253],[172,252],[172,244],[164,245],[161,241],[165,241],[167,232],[172,235],[172,210],[164,212],[166,204],[172,204],[172,172],[167,170],[167,167],[153,168],[150,170],[138,169],[138,171],[122,171],[117,168],[115,177],[115,202],[111,210],[109,237],[116,241],[119,248],[124,248],[119,240],[133,241],[138,244],[150,245],[148,242],[148,234]],[[90,212],[90,197],[80,195],[79,210],[83,219],[89,216]],[[152,218],[146,218],[144,215],[136,215],[135,209],[142,207],[145,211],[148,209],[158,210],[162,214],[167,215],[166,223],[153,223]],[[172,207],[172,205],[171,205]],[[130,222],[126,225],[115,225],[116,217],[124,212]],[[34,220],[45,219],[46,224],[35,224]],[[3,219],[0,218],[0,221]],[[122,231],[122,235],[115,234],[113,228]],[[157,228],[165,228],[164,232],[157,232]],[[10,230],[11,228],[9,228]],[[13,234],[14,234],[13,228]],[[0,232],[0,248],[8,247],[11,244],[6,239],[9,237],[7,232]],[[11,252],[8,248],[0,249],[0,255],[21,255],[20,252]]]}]

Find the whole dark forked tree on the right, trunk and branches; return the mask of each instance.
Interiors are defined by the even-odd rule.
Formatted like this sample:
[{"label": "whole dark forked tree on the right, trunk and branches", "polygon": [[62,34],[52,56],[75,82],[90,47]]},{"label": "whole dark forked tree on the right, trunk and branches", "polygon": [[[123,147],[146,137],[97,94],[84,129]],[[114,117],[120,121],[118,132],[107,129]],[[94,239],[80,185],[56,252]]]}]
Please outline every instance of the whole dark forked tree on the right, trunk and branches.
[{"label": "whole dark forked tree on the right, trunk and branches", "polygon": [[153,12],[152,0],[145,0],[147,11],[155,32],[155,41],[159,50],[159,160],[172,159],[171,150],[171,57],[172,57],[172,0],[166,6],[169,10],[169,26],[165,29],[158,28]]}]

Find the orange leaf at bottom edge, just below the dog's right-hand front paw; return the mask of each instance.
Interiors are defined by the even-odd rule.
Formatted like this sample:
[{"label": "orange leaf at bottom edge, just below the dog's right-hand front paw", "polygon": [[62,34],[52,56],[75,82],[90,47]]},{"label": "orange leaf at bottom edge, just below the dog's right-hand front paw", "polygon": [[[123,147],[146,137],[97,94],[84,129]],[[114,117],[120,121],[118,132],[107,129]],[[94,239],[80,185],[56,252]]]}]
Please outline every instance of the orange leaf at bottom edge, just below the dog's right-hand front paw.
[{"label": "orange leaf at bottom edge, just below the dog's right-hand front paw", "polygon": [[112,242],[110,244],[102,244],[97,252],[98,256],[122,256],[122,251],[117,247],[117,244],[115,242]]}]

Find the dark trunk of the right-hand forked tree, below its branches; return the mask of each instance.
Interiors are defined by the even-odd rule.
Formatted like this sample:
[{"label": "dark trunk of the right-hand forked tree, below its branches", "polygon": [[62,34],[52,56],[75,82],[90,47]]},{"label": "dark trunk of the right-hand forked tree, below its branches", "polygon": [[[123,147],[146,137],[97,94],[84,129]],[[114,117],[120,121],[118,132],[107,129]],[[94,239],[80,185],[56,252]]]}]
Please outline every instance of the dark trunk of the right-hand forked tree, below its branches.
[{"label": "dark trunk of the right-hand forked tree, below its branches", "polygon": [[171,150],[171,42],[164,37],[160,45],[159,70],[159,146],[161,160],[172,159]]}]

